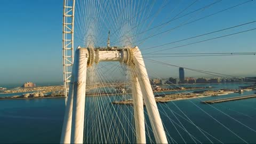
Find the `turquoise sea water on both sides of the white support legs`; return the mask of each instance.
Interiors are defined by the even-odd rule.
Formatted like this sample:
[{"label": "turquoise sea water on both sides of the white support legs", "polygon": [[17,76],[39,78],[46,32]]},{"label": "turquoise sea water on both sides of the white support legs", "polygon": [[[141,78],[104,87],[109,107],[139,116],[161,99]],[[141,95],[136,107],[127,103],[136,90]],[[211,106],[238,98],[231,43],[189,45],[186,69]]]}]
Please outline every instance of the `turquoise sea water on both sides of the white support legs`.
[{"label": "turquoise sea water on both sides of the white support legs", "polygon": [[[189,86],[238,89],[238,86],[244,85],[248,84]],[[169,142],[256,143],[256,98],[213,105],[201,103],[203,100],[237,97],[254,92],[256,91],[158,103]],[[3,96],[4,94],[0,94],[0,97]],[[86,101],[90,99],[91,97],[88,97]],[[64,99],[1,100],[0,143],[58,143],[64,111]],[[152,133],[149,134],[152,136]],[[149,139],[147,140],[149,142]]]}]

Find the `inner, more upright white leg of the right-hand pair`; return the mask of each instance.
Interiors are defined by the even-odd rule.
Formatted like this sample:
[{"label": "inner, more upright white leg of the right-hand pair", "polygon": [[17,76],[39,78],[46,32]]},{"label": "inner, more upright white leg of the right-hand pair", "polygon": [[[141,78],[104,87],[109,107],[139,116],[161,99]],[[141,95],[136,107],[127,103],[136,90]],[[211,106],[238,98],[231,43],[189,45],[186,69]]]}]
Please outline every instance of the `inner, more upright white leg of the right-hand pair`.
[{"label": "inner, more upright white leg of the right-hand pair", "polygon": [[146,143],[143,98],[137,74],[132,69],[132,97],[134,110],[135,134],[137,143]]}]

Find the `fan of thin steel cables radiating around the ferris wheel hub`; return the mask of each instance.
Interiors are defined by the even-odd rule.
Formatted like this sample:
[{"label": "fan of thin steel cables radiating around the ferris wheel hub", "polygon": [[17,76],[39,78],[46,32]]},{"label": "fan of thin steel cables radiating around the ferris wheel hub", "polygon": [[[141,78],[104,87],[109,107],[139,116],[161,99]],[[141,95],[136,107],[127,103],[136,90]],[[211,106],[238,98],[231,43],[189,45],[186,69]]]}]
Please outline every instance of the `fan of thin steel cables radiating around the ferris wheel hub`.
[{"label": "fan of thin steel cables radiating around the ferris wheel hub", "polygon": [[[77,1],[75,7],[75,43],[82,47],[95,47],[107,46],[107,34],[110,30],[110,45],[124,46],[125,48],[142,45],[148,42],[150,38],[161,37],[164,34],[170,34],[172,30],[185,27],[190,23],[196,21],[203,21],[205,18],[212,17],[213,15],[220,14],[225,11],[231,11],[238,6],[244,6],[251,1],[241,3],[234,3],[232,6],[225,7],[224,9],[207,14],[206,16],[199,17],[205,10],[212,9],[212,7],[221,4],[222,1],[214,1],[211,3],[203,4],[197,7],[201,1],[191,1],[189,4],[185,2],[172,3],[171,1],[163,1],[159,4],[158,1]],[[182,5],[184,5],[182,7]],[[171,7],[171,8],[170,8]],[[166,9],[171,9],[169,14],[161,15]],[[192,9],[192,10],[190,10]],[[155,21],[163,17],[162,21],[157,24]],[[175,21],[181,21],[175,25]],[[169,26],[175,26],[170,28]],[[255,25],[255,20],[247,21],[244,23],[236,23],[233,26],[221,28],[218,30],[205,32],[201,35],[182,38],[178,41],[171,41],[150,47],[141,47],[142,57],[138,57],[134,53],[134,57],[143,59],[146,62],[163,65],[164,67],[180,67],[155,60],[154,58],[171,58],[171,57],[212,57],[221,56],[226,57],[234,55],[255,55],[255,52],[205,52],[205,53],[171,53],[167,50],[175,49],[178,47],[185,47],[197,43],[209,42],[213,39],[221,39],[224,37],[243,34],[253,31],[255,28],[242,29],[238,32],[230,33],[227,35],[220,35],[217,37],[200,39],[203,36],[219,33],[220,31],[233,30],[234,28],[241,28],[243,26]],[[194,38],[198,38],[194,42]],[[171,45],[174,43],[185,42],[191,40],[186,44],[178,46],[171,46],[164,48],[163,46]],[[149,51],[152,50],[152,51]],[[157,53],[162,52],[163,53]],[[199,70],[193,68],[186,68],[197,73],[203,73],[211,76],[218,76],[223,78],[233,79],[233,75],[216,73],[213,71]],[[147,67],[150,74],[153,73],[154,77],[161,78]],[[84,143],[136,143],[134,123],[134,112],[132,105],[115,105],[114,101],[133,100],[135,95],[132,93],[135,85],[132,81],[132,75],[139,75],[134,66],[121,65],[119,62],[100,62],[99,64],[93,63],[92,66],[87,68],[86,80],[86,95],[85,95],[85,123],[84,123]],[[142,75],[142,77],[145,77]],[[180,85],[168,85],[170,88],[180,87]],[[141,87],[145,90],[148,87]],[[151,89],[151,86],[150,86]],[[175,89],[174,89],[175,90]],[[185,91],[186,92],[186,91]],[[181,93],[181,91],[175,91]],[[170,94],[169,92],[155,92],[155,95]],[[142,97],[142,95],[139,95]],[[196,98],[202,100],[201,98]],[[233,135],[241,142],[246,141],[241,137],[237,131],[234,131],[226,124],[219,121],[217,116],[209,112],[209,109],[204,109],[198,106],[195,101],[188,99],[201,114],[212,119],[212,122],[217,124],[223,130]],[[151,104],[151,103],[150,103]],[[225,105],[220,105],[225,107]],[[166,132],[167,140],[169,143],[224,143],[219,137],[215,136],[209,129],[195,122],[195,119],[182,110],[182,106],[178,102],[171,101],[170,103],[159,103],[157,105],[159,113],[162,117],[164,130]],[[210,105],[210,108],[221,113],[222,116],[228,117],[230,121],[237,123],[246,130],[255,133],[255,127],[246,125],[235,117],[228,115],[225,111],[217,106]],[[240,113],[237,111],[237,113]],[[144,108],[145,114],[145,132],[146,139],[149,143],[155,143],[152,127],[149,122],[148,113]],[[241,113],[245,116],[245,114]],[[143,116],[144,117],[144,116]],[[248,116],[247,116],[248,117]],[[153,119],[154,121],[154,119]],[[168,125],[170,124],[170,125]],[[170,128],[171,127],[171,128]],[[174,132],[175,134],[174,134]]]}]

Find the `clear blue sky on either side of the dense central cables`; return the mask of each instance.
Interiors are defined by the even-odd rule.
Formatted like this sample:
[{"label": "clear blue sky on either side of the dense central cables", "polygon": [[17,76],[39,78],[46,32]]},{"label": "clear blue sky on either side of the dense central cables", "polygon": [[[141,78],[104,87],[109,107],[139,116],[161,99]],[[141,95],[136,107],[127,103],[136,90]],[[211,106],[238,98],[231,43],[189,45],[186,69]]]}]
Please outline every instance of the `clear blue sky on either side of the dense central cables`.
[{"label": "clear blue sky on either side of the dense central cables", "polygon": [[[171,2],[176,4],[178,1]],[[177,11],[171,13],[171,8],[163,9],[151,27],[174,17],[178,10],[184,9],[186,4],[192,1],[183,1],[177,7]],[[232,5],[245,1],[223,1],[211,8],[199,13],[196,18],[204,17]],[[156,7],[162,1],[156,1]],[[212,1],[198,1],[186,12],[212,3]],[[33,82],[60,82],[62,81],[62,5],[61,0],[2,0],[0,9],[0,86],[6,83]],[[160,45],[177,41],[183,38],[209,33],[214,30],[236,26],[245,22],[256,20],[256,2],[250,2],[236,7],[229,11],[214,15],[202,21],[195,22],[173,30],[171,33],[148,39],[140,45],[143,53],[144,47]],[[169,18],[169,19],[170,19]],[[196,19],[195,18],[195,19]],[[185,19],[184,19],[185,20]],[[179,25],[181,20],[172,22],[160,31],[164,31]],[[179,44],[167,45],[173,47],[190,42],[215,36],[236,33],[241,30],[256,28],[256,24],[227,30],[222,33],[213,34]],[[156,33],[155,31],[151,31]],[[149,34],[150,34],[149,33]],[[205,43],[180,47],[164,51],[166,53],[191,53],[191,52],[255,52],[256,50],[256,30],[248,33],[216,39]],[[75,45],[76,47],[77,45]],[[159,52],[161,53],[161,52]],[[163,52],[162,52],[163,53]],[[236,56],[236,57],[183,57],[183,58],[154,58],[154,60],[179,65],[182,67],[198,68],[202,70],[215,71],[219,73],[236,76],[256,76],[255,61],[256,56]],[[156,73],[159,77],[178,77],[178,68],[169,68],[146,62],[149,69],[153,71],[149,74],[154,77]],[[186,76],[201,76],[198,73],[189,73],[185,70]]]}]

